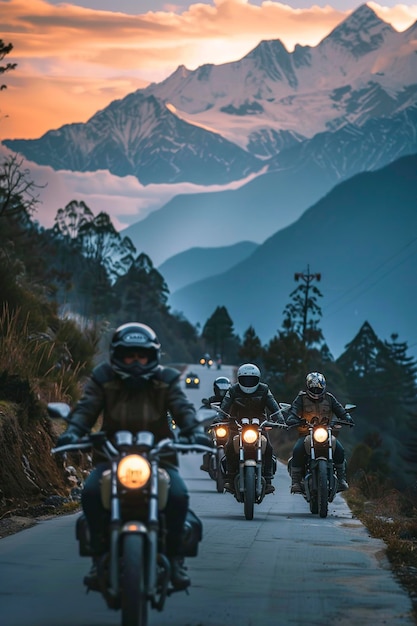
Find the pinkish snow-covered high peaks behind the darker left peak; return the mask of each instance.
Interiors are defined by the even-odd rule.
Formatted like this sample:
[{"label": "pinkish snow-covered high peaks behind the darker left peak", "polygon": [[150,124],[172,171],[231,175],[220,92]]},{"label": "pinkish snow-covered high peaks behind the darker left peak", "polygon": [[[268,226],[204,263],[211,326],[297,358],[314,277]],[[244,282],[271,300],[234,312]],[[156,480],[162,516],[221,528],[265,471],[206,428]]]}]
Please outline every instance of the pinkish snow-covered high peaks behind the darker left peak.
[{"label": "pinkish snow-covered high peaks behind the darker left peak", "polygon": [[219,132],[255,154],[346,124],[391,116],[417,102],[417,23],[395,31],[362,5],[315,47],[288,52],[262,41],[240,61],[180,66],[145,89],[183,119]]}]

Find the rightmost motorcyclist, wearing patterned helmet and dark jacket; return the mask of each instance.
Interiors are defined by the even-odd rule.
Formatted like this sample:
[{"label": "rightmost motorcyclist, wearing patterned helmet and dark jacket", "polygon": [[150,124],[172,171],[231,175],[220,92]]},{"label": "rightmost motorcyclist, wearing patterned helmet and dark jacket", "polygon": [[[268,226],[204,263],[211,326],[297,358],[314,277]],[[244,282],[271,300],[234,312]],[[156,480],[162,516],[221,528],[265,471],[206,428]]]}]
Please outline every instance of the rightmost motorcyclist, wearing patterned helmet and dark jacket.
[{"label": "rightmost motorcyclist, wearing patterned helmet and dark jacket", "polygon": [[[301,480],[305,474],[305,464],[307,452],[304,439],[308,435],[308,426],[314,416],[327,417],[349,422],[354,426],[354,421],[349,412],[340,404],[333,394],[326,391],[326,379],[320,372],[310,372],[306,376],[306,389],[300,391],[294,399],[289,415],[287,417],[288,426],[297,426],[299,438],[293,448],[291,462],[291,493],[303,493]],[[333,460],[337,473],[337,490],[346,491],[349,485],[346,480],[345,451],[338,439],[333,453]]]}]

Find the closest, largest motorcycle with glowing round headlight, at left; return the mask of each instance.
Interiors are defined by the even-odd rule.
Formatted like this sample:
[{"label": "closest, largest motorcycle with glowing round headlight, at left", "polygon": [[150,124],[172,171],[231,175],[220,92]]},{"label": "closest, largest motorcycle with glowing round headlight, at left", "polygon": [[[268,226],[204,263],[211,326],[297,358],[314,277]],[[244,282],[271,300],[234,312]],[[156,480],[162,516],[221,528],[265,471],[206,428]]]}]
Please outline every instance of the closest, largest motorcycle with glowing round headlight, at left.
[{"label": "closest, largest motorcycle with glowing round headlight, at left", "polygon": [[[48,413],[70,423],[67,404],[48,404]],[[121,430],[111,440],[103,431],[88,432],[76,443],[53,448],[52,453],[92,449],[110,463],[101,483],[101,499],[110,517],[108,550],[97,563],[98,588],[87,585],[87,590],[99,591],[108,608],[121,610],[121,626],[147,626],[149,607],[162,611],[166,598],[179,591],[171,585],[165,551],[169,474],[160,461],[175,451],[205,452],[209,448],[181,443],[180,439],[155,442],[151,432]],[[84,514],[77,518],[76,538],[80,556],[91,557]],[[182,538],[184,557],[197,556],[201,539],[201,521],[189,510]]]}]

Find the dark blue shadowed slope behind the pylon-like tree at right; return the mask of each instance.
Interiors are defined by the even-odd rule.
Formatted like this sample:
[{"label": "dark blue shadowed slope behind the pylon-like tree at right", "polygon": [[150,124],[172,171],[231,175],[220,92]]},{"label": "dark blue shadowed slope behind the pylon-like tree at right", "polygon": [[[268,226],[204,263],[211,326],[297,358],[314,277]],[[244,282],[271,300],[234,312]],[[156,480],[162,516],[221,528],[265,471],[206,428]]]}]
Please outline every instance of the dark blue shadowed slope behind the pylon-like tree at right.
[{"label": "dark blue shadowed slope behind the pylon-like tree at right", "polygon": [[417,329],[417,155],[344,181],[293,224],[222,275],[172,294],[170,305],[204,324],[225,306],[240,335],[252,325],[263,342],[282,325],[294,274],[321,273],[321,326],[337,357],[368,321],[382,339]]}]

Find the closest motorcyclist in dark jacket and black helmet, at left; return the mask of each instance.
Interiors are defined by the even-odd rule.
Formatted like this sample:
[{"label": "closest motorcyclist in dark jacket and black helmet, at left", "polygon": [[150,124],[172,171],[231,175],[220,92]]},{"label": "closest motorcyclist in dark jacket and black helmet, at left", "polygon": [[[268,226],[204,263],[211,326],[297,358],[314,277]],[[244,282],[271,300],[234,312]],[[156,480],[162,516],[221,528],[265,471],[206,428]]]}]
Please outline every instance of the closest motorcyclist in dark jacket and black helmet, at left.
[{"label": "closest motorcyclist in dark jacket and black helmet, at left", "polygon": [[[109,362],[102,362],[91,373],[84,393],[72,411],[71,424],[57,445],[74,443],[91,429],[102,414],[102,429],[108,435],[124,429],[131,432],[150,430],[159,441],[172,437],[168,412],[180,429],[193,427],[197,421],[195,408],[188,401],[180,383],[180,372],[159,364],[158,337],[149,326],[137,322],[123,324],[116,329],[110,342]],[[192,435],[190,435],[192,439]],[[100,498],[100,479],[108,462],[93,460],[94,469],[82,491],[81,503],[91,535],[94,557],[106,551],[104,531],[108,514]],[[188,510],[189,494],[178,471],[178,458],[173,453],[164,467],[170,477],[166,506],[167,556],[171,563],[171,582],[185,589],[190,584],[181,553],[181,535]],[[85,582],[94,587],[97,572],[93,567]]]}]

